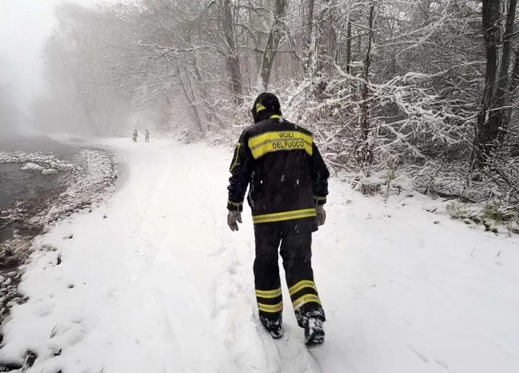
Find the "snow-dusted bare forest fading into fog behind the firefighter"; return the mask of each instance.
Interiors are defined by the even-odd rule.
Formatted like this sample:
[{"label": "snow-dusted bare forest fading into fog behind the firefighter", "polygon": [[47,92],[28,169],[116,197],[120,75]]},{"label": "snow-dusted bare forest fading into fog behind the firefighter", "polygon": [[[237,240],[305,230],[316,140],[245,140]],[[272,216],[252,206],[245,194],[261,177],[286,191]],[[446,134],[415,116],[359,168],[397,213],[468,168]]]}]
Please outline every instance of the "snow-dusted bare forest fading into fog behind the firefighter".
[{"label": "snow-dusted bare forest fading into fog behind the firefighter", "polygon": [[[44,51],[49,131],[232,145],[262,91],[368,194],[459,218],[519,212],[516,0],[63,3]],[[365,182],[368,182],[366,184]],[[483,222],[484,223],[484,222]],[[487,229],[492,229],[487,227]]]}]

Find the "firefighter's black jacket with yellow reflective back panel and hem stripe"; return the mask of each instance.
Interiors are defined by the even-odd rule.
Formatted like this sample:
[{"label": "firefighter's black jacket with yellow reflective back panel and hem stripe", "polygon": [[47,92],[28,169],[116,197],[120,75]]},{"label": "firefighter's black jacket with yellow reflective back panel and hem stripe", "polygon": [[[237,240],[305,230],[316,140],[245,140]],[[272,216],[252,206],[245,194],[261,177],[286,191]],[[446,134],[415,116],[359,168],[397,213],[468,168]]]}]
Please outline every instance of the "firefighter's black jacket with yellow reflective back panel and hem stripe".
[{"label": "firefighter's black jacket with yellow reflective back panel and hem stripe", "polygon": [[297,221],[316,230],[315,206],[326,203],[328,178],[311,132],[278,115],[245,129],[230,165],[227,209],[242,211],[245,191],[254,224]]}]

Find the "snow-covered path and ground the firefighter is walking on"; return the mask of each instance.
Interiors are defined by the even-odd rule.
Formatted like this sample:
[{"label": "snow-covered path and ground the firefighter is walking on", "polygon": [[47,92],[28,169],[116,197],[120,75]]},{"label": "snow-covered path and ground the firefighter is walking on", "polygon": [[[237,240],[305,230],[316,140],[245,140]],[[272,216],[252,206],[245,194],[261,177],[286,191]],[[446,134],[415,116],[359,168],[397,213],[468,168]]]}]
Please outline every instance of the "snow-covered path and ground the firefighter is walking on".
[{"label": "snow-covered path and ground the firefighter is walking on", "polygon": [[128,179],[35,243],[2,362],[30,350],[34,373],[519,371],[519,239],[332,181],[313,243],[327,340],[308,351],[286,287],[285,337],[258,326],[247,208],[239,232],[226,225],[231,154],[107,143]]}]

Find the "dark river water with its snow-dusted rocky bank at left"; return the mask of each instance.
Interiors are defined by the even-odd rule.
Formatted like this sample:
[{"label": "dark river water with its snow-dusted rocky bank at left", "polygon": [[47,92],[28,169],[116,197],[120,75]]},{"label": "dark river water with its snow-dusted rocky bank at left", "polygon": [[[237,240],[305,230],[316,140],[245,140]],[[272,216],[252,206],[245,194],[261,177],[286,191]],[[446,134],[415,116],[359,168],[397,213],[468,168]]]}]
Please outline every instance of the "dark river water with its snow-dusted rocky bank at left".
[{"label": "dark river water with its snow-dusted rocky bank at left", "polygon": [[50,139],[0,143],[0,317],[15,302],[32,239],[57,220],[111,194],[117,171],[109,150]]}]

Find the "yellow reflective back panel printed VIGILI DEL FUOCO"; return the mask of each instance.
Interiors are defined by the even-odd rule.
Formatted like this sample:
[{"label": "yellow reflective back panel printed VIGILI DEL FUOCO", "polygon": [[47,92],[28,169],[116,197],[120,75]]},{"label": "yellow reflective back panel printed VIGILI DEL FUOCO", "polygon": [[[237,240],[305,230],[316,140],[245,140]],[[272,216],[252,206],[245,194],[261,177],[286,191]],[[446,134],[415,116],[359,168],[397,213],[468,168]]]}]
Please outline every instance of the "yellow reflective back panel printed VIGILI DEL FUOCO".
[{"label": "yellow reflective back panel printed VIGILI DEL FUOCO", "polygon": [[312,144],[312,136],[299,131],[265,132],[248,142],[254,159],[278,150],[305,150],[311,156]]}]

